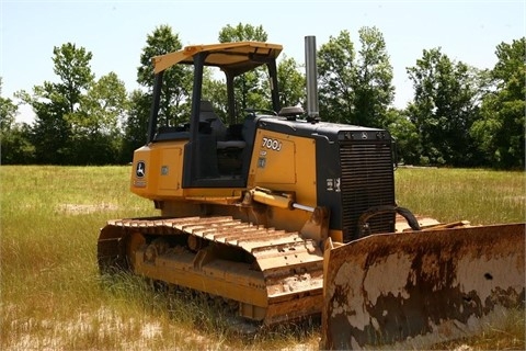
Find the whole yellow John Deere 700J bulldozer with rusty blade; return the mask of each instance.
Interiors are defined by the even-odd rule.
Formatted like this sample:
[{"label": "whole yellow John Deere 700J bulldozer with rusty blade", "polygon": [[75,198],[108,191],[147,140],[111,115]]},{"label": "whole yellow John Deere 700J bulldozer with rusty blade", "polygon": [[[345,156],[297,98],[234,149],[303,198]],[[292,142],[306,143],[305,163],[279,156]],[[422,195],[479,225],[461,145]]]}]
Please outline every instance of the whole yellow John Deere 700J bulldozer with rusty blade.
[{"label": "whole yellow John Deere 700J bulldozer with rusty blade", "polygon": [[[445,309],[460,309],[457,319],[469,324],[523,302],[524,225],[442,225],[397,206],[389,132],[321,121],[312,36],[307,112],[282,107],[281,52],[237,42],[152,58],[147,141],[134,152],[130,189],[160,215],[108,220],[98,241],[101,272],[191,288],[260,325],[321,314],[324,349],[398,342],[436,331]],[[160,111],[170,103],[163,75],[180,65],[194,80],[190,122],[174,125]],[[210,68],[225,75],[222,117],[204,93]],[[236,88],[254,70],[268,78],[259,87],[263,110],[247,107]],[[494,288],[467,287],[471,270]]]}]

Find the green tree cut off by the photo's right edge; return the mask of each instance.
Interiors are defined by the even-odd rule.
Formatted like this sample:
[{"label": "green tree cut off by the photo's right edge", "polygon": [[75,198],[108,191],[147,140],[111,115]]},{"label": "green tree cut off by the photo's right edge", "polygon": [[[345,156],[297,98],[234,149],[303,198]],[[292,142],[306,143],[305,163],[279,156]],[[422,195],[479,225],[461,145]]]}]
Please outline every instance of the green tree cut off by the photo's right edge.
[{"label": "green tree cut off by the photo's right edge", "polygon": [[495,167],[524,169],[526,38],[501,43],[495,54],[493,90],[483,98],[481,120],[470,133]]}]

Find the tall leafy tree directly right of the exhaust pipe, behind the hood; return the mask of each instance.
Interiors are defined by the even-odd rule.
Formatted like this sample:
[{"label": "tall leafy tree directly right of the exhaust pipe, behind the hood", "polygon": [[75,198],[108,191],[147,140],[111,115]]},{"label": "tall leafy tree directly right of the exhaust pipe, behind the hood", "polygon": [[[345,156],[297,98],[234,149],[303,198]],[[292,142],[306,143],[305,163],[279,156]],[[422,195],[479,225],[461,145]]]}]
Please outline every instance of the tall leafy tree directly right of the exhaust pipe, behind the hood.
[{"label": "tall leafy tree directly right of the exhaust pipe, behind the hood", "polygon": [[356,55],[347,31],[330,37],[318,53],[320,114],[324,120],[380,127],[395,97],[392,66],[382,34],[358,31]]}]

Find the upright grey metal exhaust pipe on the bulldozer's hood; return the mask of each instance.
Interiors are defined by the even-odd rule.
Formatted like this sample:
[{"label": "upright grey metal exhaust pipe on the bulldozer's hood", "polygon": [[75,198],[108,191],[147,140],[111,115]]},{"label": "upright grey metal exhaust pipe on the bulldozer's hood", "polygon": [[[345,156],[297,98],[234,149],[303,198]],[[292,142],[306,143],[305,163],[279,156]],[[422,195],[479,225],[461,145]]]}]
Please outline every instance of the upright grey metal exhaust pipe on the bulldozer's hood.
[{"label": "upright grey metal exhaust pipe on the bulldozer's hood", "polygon": [[318,69],[316,66],[316,36],[305,37],[305,69],[307,76],[307,115],[309,121],[320,120],[318,102]]}]

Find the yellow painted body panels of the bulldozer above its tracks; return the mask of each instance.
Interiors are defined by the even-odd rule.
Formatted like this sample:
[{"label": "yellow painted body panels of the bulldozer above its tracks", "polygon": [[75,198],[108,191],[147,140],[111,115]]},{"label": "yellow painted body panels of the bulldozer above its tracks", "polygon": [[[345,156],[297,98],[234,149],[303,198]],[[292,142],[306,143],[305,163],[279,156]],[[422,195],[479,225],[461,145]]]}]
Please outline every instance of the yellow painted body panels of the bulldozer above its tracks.
[{"label": "yellow painted body panels of the bulldozer above its tracks", "polygon": [[[163,202],[163,215],[184,213],[196,215],[205,203],[222,215],[240,216],[239,207],[221,206],[240,202],[248,189],[261,186],[276,196],[294,194],[294,202],[316,207],[316,140],[276,132],[258,131],[249,169],[248,189],[239,188],[182,188],[184,146],[187,140],[153,143],[135,151],[130,188],[135,194]],[[138,162],[145,163],[145,176],[136,174]],[[283,194],[281,194],[283,192]],[[288,204],[288,200],[287,200]],[[282,207],[282,208],[279,208]],[[176,210],[175,210],[176,208]],[[252,216],[252,214],[250,214]],[[263,217],[261,217],[263,216]],[[265,214],[251,218],[256,223],[285,230],[299,230],[311,213],[271,205]],[[264,219],[263,219],[264,218]],[[263,222],[262,222],[263,223]],[[336,239],[338,236],[334,236]]]}]

